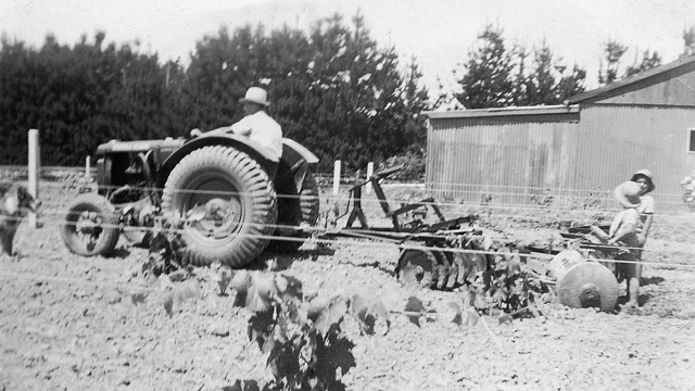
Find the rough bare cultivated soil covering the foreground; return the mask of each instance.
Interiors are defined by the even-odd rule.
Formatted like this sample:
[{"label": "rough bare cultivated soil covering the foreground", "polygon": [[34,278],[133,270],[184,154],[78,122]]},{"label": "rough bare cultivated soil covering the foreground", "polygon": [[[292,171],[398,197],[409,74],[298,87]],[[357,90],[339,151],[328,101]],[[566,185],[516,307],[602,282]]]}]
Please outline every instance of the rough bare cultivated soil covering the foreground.
[{"label": "rough bare cultivated soil covering the foreground", "polygon": [[[70,253],[58,223],[75,194],[67,186],[45,191],[45,226],[23,224],[18,254],[0,257],[0,390],[223,390],[237,379],[270,378],[267,357],[247,336],[251,314],[232,306],[233,293],[219,294],[210,268],[185,281],[144,278],[147,250],[124,238],[112,257]],[[293,255],[265,254],[253,267],[296,277],[305,292],[395,293],[399,310],[416,294],[438,311],[439,320],[420,327],[394,314],[391,328],[375,336],[346,319],[355,344],[355,365],[342,377],[349,390],[686,390],[695,389],[688,218],[679,229],[655,230],[643,256],[641,307],[616,314],[567,308],[551,297],[539,304],[541,317],[500,325],[489,316],[458,327],[448,306],[456,293],[402,287],[390,243],[309,242]],[[509,219],[505,228],[552,235]]]}]

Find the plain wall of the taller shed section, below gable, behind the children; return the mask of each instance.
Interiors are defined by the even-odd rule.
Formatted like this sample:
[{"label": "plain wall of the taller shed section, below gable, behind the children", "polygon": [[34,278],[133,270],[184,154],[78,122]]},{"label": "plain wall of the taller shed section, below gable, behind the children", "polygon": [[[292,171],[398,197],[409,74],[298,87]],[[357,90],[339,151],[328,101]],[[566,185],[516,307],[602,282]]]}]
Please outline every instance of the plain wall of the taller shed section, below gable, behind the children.
[{"label": "plain wall of the taller shed section, below gable, behind the children", "polygon": [[574,188],[610,190],[636,169],[648,168],[657,202],[680,203],[680,181],[695,168],[687,151],[695,109],[590,105],[580,115]]}]

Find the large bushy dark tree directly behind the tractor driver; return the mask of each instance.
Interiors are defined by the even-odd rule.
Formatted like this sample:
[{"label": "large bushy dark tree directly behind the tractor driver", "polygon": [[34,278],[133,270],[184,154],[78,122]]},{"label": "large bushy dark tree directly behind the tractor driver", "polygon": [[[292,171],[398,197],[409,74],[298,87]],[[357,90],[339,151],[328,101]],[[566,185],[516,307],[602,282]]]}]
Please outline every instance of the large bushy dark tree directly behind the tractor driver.
[{"label": "large bushy dark tree directly behind the tractor driver", "polygon": [[421,142],[418,115],[429,105],[420,76],[416,65],[401,73],[395,50],[379,48],[361,15],[350,26],[333,15],[308,36],[287,26],[269,34],[245,26],[206,37],[187,72],[187,90],[191,117],[217,127],[241,115],[237,101],[248,87],[265,86],[286,137],[321,157],[320,168],[340,159],[356,169]]}]

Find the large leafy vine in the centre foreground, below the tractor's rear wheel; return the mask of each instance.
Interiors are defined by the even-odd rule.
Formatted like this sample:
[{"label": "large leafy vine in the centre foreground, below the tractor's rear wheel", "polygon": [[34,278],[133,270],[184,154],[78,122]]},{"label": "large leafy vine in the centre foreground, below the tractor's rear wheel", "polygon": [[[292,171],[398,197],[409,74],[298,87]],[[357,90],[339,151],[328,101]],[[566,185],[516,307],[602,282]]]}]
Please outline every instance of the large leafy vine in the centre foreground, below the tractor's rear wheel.
[{"label": "large leafy vine in the centre foreground, below the tractor's rear wheel", "polygon": [[344,389],[340,379],[355,366],[354,344],[341,329],[349,299],[305,298],[300,280],[270,273],[237,272],[229,287],[235,305],[253,312],[249,339],[268,354],[274,380],[263,390]]}]

